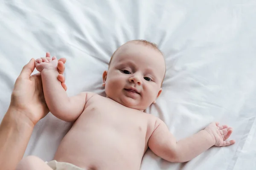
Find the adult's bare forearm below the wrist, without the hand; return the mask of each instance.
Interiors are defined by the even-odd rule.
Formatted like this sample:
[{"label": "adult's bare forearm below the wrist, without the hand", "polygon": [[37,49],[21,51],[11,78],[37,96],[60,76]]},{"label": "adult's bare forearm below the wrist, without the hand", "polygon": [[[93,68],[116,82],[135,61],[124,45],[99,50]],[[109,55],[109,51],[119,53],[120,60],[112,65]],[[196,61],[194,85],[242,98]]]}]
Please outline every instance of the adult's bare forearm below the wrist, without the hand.
[{"label": "adult's bare forearm below the wrist, without the hand", "polygon": [[15,170],[26,150],[34,124],[21,111],[9,108],[0,124],[0,169]]}]

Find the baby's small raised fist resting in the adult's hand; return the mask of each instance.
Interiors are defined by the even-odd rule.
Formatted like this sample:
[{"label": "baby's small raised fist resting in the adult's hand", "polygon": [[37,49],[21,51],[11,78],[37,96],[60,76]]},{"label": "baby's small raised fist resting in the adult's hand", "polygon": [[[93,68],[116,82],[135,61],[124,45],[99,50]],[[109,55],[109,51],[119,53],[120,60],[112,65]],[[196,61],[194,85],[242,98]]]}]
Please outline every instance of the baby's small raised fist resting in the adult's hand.
[{"label": "baby's small raised fist resting in the adult's hand", "polygon": [[57,71],[56,57],[41,57],[35,60],[35,68],[41,73],[44,69]]}]

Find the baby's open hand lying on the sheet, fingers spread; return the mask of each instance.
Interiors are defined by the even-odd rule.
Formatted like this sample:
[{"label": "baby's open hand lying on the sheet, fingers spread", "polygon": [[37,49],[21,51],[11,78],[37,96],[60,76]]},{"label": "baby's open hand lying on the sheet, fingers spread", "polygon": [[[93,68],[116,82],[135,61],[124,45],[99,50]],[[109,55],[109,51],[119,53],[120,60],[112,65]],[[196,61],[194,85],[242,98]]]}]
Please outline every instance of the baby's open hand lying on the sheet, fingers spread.
[{"label": "baby's open hand lying on the sheet, fingers spread", "polygon": [[232,127],[219,125],[218,122],[212,122],[204,130],[206,130],[215,140],[215,146],[229,146],[235,143],[235,140],[227,141],[233,132]]}]

